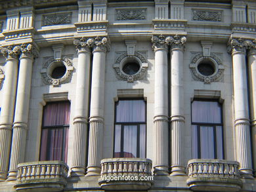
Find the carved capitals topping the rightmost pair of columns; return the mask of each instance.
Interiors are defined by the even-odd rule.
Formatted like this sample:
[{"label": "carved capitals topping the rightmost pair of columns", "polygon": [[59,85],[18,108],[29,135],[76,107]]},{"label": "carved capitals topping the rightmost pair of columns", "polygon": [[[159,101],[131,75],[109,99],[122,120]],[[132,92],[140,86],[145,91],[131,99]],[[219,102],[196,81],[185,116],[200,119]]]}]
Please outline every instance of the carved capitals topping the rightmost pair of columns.
[{"label": "carved capitals topping the rightmost pair of columns", "polygon": [[256,48],[256,39],[230,39],[228,41],[228,52],[234,54],[236,52],[244,52],[245,50],[251,50]]}]

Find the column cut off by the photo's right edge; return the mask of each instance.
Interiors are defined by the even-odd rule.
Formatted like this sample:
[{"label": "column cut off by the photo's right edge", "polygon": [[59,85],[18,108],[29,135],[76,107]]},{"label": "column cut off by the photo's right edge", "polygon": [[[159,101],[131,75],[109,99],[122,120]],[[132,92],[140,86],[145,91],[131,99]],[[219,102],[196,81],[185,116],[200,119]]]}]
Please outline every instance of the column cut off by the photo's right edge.
[{"label": "column cut off by the photo's right edge", "polygon": [[250,102],[251,102],[251,134],[253,144],[253,167],[256,176],[256,45],[249,49],[248,55]]}]

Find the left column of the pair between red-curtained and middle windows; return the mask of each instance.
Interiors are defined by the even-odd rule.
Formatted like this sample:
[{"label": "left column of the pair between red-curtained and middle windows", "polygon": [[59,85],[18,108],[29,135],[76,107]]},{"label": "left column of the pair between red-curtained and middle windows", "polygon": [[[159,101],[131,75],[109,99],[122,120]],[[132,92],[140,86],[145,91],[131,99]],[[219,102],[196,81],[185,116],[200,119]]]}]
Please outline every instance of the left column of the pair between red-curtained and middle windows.
[{"label": "left column of the pair between red-curtained and middle windows", "polygon": [[72,176],[84,176],[87,149],[87,123],[89,110],[89,83],[91,67],[91,43],[93,39],[74,41],[77,48],[77,81],[75,92],[74,149]]}]

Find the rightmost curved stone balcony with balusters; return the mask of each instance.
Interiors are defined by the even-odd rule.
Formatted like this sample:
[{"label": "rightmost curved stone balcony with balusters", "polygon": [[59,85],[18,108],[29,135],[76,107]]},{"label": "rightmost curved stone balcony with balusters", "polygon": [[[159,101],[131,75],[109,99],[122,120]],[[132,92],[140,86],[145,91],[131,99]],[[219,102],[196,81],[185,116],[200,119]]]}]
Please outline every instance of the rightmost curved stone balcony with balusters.
[{"label": "rightmost curved stone balcony with balusters", "polygon": [[239,163],[219,159],[188,161],[188,180],[193,191],[239,191],[242,185]]}]

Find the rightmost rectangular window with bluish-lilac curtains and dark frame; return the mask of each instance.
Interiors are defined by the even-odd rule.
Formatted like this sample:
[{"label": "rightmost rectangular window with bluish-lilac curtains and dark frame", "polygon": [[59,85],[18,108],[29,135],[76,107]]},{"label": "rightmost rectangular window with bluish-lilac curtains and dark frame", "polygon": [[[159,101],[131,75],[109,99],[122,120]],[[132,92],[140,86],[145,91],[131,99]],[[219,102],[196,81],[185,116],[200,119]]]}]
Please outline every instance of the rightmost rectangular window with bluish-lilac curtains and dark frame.
[{"label": "rightmost rectangular window with bluish-lilac curtains and dark frame", "polygon": [[193,159],[223,159],[222,107],[214,100],[192,102]]}]

